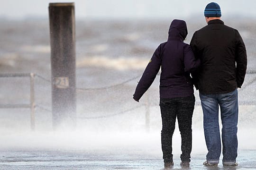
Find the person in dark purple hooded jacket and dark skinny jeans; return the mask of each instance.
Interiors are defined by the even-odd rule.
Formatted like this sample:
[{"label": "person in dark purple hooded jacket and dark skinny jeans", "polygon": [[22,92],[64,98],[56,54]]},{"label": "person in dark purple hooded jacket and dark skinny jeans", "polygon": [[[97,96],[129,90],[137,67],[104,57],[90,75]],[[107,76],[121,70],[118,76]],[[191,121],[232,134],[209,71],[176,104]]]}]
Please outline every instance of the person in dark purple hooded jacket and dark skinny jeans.
[{"label": "person in dark purple hooded jacket and dark skinny jeans", "polygon": [[183,42],[187,34],[186,22],[174,19],[169,28],[167,42],[161,43],[155,50],[133,94],[133,99],[139,102],[161,68],[161,142],[165,168],[174,165],[172,137],[176,117],[182,138],[181,165],[189,166],[191,158],[195,97],[190,73],[199,67],[200,60],[194,58],[190,45]]}]

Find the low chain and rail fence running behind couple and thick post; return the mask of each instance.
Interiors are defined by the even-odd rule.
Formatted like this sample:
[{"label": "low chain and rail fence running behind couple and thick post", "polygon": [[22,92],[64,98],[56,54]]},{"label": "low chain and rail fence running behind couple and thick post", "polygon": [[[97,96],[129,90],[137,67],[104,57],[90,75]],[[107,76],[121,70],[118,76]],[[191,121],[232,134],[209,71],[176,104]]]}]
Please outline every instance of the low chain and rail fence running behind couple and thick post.
[{"label": "low chain and rail fence running behind couple and thick post", "polygon": [[[256,70],[248,70],[247,74],[256,74]],[[160,74],[158,74],[157,76],[159,76]],[[9,74],[0,74],[0,78],[10,78],[10,77],[29,77],[30,78],[30,104],[0,104],[0,109],[18,109],[18,108],[26,108],[26,109],[30,109],[31,110],[31,129],[34,129],[35,127],[35,110],[44,110],[46,112],[52,113],[52,110],[47,108],[46,106],[37,103],[35,104],[34,101],[34,78],[38,78],[41,79],[47,83],[49,83],[50,85],[54,85],[52,83],[51,80],[45,78],[44,76],[41,76],[39,74],[34,74],[34,73],[9,73]],[[105,90],[105,89],[110,89],[110,88],[114,88],[117,86],[122,86],[125,85],[135,79],[138,79],[139,77],[141,77],[141,75],[139,76],[134,76],[132,78],[129,78],[128,80],[125,80],[123,82],[120,82],[118,84],[115,85],[109,85],[109,86],[104,86],[104,87],[97,87],[97,88],[82,88],[82,87],[76,87],[76,91],[97,91],[97,90]],[[240,91],[245,90],[248,88],[249,85],[252,85],[253,83],[256,82],[256,77],[252,78],[249,82],[247,82],[247,84],[243,85],[243,88],[240,89]],[[246,101],[246,102],[239,102],[240,105],[256,105],[256,102],[254,101]],[[100,116],[94,116],[94,117],[82,117],[82,116],[77,116],[76,118],[78,119],[102,119],[102,118],[110,118],[110,117],[114,117],[114,116],[118,116],[118,115],[122,115],[125,113],[128,113],[130,111],[139,109],[141,107],[150,107],[150,106],[158,106],[159,103],[157,102],[147,102],[147,103],[142,103],[139,104],[133,108],[129,108],[126,110],[121,110],[118,113],[113,113],[113,114],[109,114],[109,115],[100,115]],[[201,105],[200,102],[196,102],[196,105]],[[148,110],[148,108],[146,108],[146,110]]]}]

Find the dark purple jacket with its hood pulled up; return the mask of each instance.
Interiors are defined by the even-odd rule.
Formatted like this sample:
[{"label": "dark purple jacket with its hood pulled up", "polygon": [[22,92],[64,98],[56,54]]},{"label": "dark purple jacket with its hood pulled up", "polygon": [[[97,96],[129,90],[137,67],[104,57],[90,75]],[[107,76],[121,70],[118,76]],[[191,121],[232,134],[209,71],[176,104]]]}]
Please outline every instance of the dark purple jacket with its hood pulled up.
[{"label": "dark purple jacket with its hood pulled up", "polygon": [[133,94],[139,101],[153,83],[161,67],[160,98],[178,98],[193,95],[190,73],[200,65],[191,47],[183,40],[188,34],[186,22],[174,19],[169,28],[168,41],[155,50]]}]

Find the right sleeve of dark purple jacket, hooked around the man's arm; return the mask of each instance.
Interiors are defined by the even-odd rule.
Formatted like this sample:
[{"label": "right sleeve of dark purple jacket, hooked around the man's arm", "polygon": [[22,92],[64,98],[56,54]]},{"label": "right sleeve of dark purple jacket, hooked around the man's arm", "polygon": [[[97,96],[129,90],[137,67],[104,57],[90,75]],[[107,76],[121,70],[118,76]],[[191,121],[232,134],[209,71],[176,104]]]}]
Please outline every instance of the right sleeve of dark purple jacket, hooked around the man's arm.
[{"label": "right sleeve of dark purple jacket, hooked around the man's arm", "polygon": [[195,59],[192,48],[188,44],[185,44],[183,51],[185,72],[195,72],[200,66],[200,59]]}]

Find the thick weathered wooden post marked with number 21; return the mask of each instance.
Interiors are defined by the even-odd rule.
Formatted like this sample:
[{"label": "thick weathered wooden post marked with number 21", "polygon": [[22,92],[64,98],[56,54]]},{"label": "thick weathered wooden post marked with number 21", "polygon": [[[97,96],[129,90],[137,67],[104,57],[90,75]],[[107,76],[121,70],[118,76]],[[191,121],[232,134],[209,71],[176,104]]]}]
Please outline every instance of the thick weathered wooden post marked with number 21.
[{"label": "thick weathered wooden post marked with number 21", "polygon": [[74,3],[49,3],[53,127],[76,121]]}]

